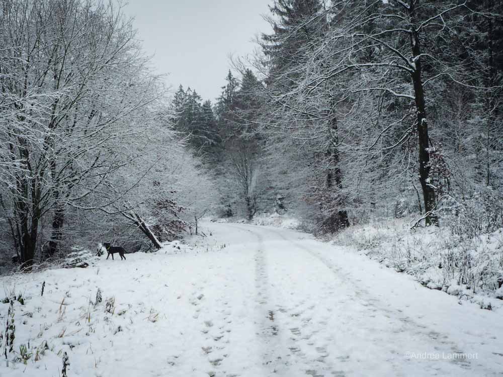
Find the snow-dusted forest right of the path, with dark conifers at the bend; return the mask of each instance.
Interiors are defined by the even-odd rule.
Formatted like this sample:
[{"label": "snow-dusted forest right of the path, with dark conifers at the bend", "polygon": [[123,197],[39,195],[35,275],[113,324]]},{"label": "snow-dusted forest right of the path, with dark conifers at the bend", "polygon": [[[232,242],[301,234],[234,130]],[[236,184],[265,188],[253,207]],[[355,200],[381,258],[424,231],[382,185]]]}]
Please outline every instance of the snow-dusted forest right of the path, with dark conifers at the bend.
[{"label": "snow-dusted forest right of the path, with dark conifers at the bend", "polygon": [[304,202],[325,231],[376,210],[501,224],[500,2],[278,0],[270,12],[273,33],[215,106],[175,96],[176,128],[241,183],[223,202],[248,218],[276,196]]}]

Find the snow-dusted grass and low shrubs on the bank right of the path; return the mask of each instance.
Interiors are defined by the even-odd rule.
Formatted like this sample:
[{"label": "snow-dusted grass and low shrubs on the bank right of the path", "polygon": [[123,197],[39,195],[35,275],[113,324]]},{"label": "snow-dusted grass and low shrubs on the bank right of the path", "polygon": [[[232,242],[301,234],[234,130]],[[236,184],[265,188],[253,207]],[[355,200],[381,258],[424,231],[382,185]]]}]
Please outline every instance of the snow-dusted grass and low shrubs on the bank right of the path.
[{"label": "snow-dusted grass and low shrubs on the bank right of the path", "polygon": [[463,299],[503,299],[503,228],[488,233],[479,230],[468,237],[450,227],[411,230],[409,221],[357,225],[336,235],[334,242],[414,275],[425,287]]}]

